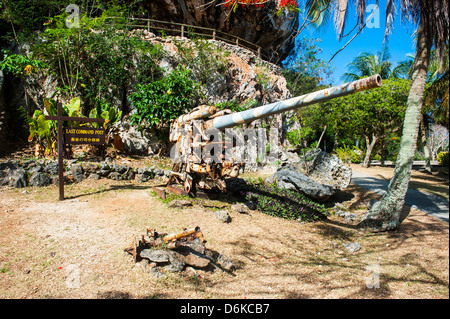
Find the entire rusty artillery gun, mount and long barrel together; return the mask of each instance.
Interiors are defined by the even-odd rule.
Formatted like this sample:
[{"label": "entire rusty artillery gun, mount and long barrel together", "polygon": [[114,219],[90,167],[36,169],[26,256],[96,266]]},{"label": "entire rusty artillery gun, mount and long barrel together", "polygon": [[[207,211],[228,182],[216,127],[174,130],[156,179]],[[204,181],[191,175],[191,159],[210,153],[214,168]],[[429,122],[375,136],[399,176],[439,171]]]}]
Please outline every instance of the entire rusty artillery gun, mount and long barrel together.
[{"label": "entire rusty artillery gun, mount and long barrel together", "polygon": [[[226,159],[224,154],[211,161],[202,158],[214,144],[224,144],[220,140],[211,140],[208,130],[224,131],[240,124],[250,123],[282,112],[288,112],[307,105],[320,103],[381,86],[381,76],[374,75],[358,81],[345,83],[317,92],[293,97],[288,100],[267,104],[242,112],[230,110],[217,111],[214,106],[201,105],[190,113],[177,118],[170,126],[170,142],[176,143],[172,148],[174,160],[169,175],[167,188],[178,193],[193,195],[197,187],[201,189],[218,189],[226,192],[224,178],[237,177],[243,163]],[[224,150],[226,148],[222,147]],[[180,191],[179,188],[183,190]]]}]

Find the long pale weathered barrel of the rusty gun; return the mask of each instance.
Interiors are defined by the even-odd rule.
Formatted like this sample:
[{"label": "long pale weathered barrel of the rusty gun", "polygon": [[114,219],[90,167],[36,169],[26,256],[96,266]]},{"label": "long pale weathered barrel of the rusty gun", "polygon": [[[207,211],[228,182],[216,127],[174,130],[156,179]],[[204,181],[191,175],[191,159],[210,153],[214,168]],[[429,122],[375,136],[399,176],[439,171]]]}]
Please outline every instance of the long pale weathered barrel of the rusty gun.
[{"label": "long pale weathered barrel of the rusty gun", "polygon": [[304,94],[285,101],[275,102],[250,110],[219,116],[207,121],[207,129],[215,128],[224,130],[239,124],[249,123],[259,118],[265,118],[275,114],[291,111],[307,105],[325,102],[348,94],[356,93],[381,86],[381,76],[376,74],[371,77],[334,86],[317,92]]}]

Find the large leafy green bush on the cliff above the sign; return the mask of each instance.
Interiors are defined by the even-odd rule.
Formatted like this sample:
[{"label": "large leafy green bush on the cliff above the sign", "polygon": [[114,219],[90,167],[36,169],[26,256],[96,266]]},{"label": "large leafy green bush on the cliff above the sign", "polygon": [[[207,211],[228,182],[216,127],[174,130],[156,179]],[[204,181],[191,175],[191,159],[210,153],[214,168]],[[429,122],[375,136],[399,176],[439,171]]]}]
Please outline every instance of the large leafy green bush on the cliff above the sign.
[{"label": "large leafy green bush on the cliff above the sign", "polygon": [[63,13],[50,20],[31,48],[62,84],[61,92],[80,96],[87,112],[98,101],[115,105],[123,100],[135,80],[147,83],[162,76],[157,64],[161,46],[131,36],[125,18],[108,19],[119,15],[107,11],[89,18],[83,13],[79,28],[67,28]]}]

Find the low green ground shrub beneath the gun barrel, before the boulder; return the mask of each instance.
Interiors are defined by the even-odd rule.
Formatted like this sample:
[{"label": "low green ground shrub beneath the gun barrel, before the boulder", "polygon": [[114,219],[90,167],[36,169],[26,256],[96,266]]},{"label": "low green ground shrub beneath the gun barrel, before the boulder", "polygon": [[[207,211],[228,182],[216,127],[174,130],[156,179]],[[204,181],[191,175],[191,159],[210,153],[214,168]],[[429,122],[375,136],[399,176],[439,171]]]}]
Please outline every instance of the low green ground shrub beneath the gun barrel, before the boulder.
[{"label": "low green ground shrub beneath the gun barrel, before the boulder", "polygon": [[271,216],[314,221],[324,219],[328,214],[323,205],[315,203],[298,191],[274,185],[253,185],[241,191],[241,195],[255,203],[258,210]]}]

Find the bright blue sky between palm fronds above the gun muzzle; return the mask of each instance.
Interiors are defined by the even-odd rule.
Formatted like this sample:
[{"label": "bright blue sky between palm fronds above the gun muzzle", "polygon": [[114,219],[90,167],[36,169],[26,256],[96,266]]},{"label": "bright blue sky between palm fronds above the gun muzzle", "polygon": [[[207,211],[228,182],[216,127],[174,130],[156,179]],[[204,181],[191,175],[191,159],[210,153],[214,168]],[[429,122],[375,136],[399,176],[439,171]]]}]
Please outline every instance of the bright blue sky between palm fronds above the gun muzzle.
[{"label": "bright blue sky between palm fronds above the gun muzzle", "polygon": [[[368,1],[368,4],[375,3],[375,1]],[[347,72],[347,64],[362,51],[368,51],[376,53],[383,47],[384,29],[386,25],[386,0],[379,1],[379,27],[365,28],[343,51],[339,52],[334,59],[330,62],[330,65],[334,67],[334,73],[332,77],[332,84],[338,85],[342,83],[340,76]],[[404,24],[401,22],[400,8],[397,7],[397,15],[395,17],[394,29],[388,39],[388,47],[391,53],[391,62],[396,66],[397,62],[405,60],[406,54],[415,52],[414,39],[412,34],[415,30],[414,25]],[[368,17],[369,13],[366,13]],[[346,32],[351,30],[356,24],[355,11],[349,12],[348,20],[346,22]],[[322,50],[319,55],[324,61],[328,61],[334,53],[341,49],[347,41],[355,34],[355,31],[347,38],[341,41],[337,40],[336,30],[334,28],[333,18],[328,22],[325,27],[317,30],[309,28],[304,30],[299,36],[318,38],[321,40],[317,46]]]}]

